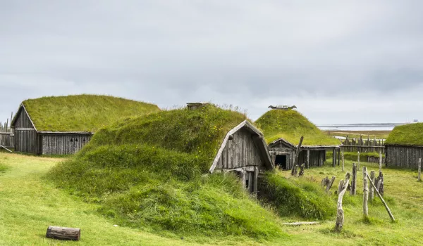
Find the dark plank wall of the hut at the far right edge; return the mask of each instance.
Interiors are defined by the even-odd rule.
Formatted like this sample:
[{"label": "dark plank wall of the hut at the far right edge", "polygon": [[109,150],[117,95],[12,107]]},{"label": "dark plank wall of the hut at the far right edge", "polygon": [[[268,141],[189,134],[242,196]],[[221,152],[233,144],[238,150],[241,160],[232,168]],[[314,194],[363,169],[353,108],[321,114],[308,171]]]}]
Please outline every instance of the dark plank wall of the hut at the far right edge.
[{"label": "dark plank wall of the hut at the far right edge", "polygon": [[386,146],[386,166],[417,169],[423,147]]}]

